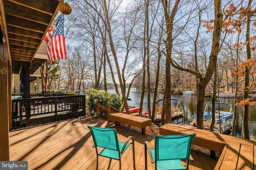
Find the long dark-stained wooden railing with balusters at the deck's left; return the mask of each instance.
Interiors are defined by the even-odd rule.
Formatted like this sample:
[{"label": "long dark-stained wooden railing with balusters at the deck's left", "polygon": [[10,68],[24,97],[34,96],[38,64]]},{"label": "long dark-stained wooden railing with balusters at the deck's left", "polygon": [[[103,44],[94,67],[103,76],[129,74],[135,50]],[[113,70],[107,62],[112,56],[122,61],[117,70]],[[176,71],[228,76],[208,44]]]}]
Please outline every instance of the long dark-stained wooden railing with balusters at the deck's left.
[{"label": "long dark-stained wooden railing with balusters at the deck's left", "polygon": [[32,98],[12,100],[12,121],[19,121],[19,125],[22,126],[33,116],[55,115],[57,118],[60,112],[78,109],[82,109],[85,115],[85,95],[60,95],[50,97],[34,97],[32,95]]}]

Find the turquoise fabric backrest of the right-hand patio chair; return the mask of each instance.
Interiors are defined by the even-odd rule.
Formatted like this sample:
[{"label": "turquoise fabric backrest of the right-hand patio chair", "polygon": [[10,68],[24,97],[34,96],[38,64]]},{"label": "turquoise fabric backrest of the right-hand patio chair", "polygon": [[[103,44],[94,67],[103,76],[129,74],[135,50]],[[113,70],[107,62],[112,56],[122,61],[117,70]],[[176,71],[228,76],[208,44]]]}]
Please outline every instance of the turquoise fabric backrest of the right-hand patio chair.
[{"label": "turquoise fabric backrest of the right-hand patio chair", "polygon": [[192,140],[191,135],[165,135],[155,137],[155,161],[170,159],[189,159]]}]

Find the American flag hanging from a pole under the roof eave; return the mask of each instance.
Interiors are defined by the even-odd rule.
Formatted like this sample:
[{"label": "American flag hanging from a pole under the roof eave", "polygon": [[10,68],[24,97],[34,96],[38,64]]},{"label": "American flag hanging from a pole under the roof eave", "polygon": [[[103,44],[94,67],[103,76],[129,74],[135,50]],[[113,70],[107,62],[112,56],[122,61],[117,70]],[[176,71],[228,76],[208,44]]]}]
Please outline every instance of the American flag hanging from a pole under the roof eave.
[{"label": "American flag hanging from a pole under the roof eave", "polygon": [[67,59],[63,23],[64,15],[62,14],[60,18],[52,24],[44,37],[50,63],[56,59]]}]

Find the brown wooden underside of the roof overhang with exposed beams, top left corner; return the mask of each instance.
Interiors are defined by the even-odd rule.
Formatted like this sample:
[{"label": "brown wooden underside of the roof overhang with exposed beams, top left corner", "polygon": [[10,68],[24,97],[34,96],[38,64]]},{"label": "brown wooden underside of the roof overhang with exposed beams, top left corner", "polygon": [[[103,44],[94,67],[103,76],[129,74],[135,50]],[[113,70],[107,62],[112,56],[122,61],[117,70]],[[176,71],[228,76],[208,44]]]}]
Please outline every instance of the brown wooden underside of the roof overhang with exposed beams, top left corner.
[{"label": "brown wooden underside of the roof overhang with exposed beams, top left corner", "polygon": [[[34,59],[64,0],[0,0],[0,23],[12,65],[42,63]],[[45,59],[44,59],[45,61]],[[32,69],[32,68],[31,68]],[[35,70],[34,70],[35,71]]]}]

